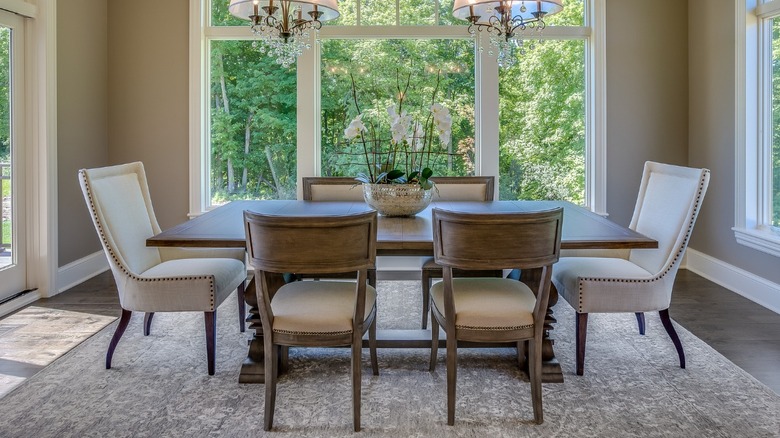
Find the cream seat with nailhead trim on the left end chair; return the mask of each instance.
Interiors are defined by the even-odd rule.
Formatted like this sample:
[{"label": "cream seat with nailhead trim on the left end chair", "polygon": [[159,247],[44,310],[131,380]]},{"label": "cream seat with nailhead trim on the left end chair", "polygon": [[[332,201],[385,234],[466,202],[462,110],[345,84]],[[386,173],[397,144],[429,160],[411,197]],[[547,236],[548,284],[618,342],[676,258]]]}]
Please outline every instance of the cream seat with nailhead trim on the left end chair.
[{"label": "cream seat with nailhead trim on the left end chair", "polygon": [[[211,282],[208,281],[212,276],[213,290]],[[216,309],[241,282],[246,280],[246,268],[242,262],[235,259],[176,259],[153,266],[139,277],[142,281],[153,281],[157,291],[154,293],[154,298],[147,295],[144,303],[132,306],[133,310],[207,312]],[[174,293],[174,291],[184,291],[184,293]],[[132,295],[132,291],[126,291],[126,294]],[[151,302],[155,300],[156,302]]]}]

